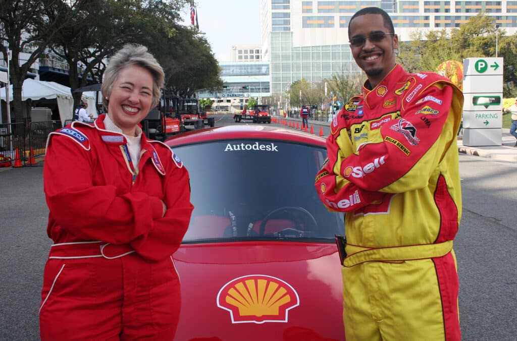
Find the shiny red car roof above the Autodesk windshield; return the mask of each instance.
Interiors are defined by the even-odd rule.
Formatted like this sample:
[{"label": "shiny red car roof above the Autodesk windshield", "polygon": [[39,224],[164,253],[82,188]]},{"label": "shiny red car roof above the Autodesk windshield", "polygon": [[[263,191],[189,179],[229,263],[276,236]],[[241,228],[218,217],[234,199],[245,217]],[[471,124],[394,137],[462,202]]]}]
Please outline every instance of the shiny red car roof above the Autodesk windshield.
[{"label": "shiny red car roof above the Autodesk windshield", "polygon": [[227,139],[275,139],[325,147],[325,138],[293,129],[266,125],[234,125],[194,130],[175,135],[165,141],[173,147]]}]

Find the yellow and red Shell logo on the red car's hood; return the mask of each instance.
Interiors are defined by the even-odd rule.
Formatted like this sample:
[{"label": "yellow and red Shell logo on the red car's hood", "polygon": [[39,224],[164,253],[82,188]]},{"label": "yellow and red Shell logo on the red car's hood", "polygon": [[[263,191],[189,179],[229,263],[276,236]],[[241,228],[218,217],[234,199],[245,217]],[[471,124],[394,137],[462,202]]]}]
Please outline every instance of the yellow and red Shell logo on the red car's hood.
[{"label": "yellow and red Shell logo on the red car's hood", "polygon": [[235,278],[217,295],[217,306],[230,312],[232,323],[287,322],[287,312],[298,305],[291,285],[267,275]]}]

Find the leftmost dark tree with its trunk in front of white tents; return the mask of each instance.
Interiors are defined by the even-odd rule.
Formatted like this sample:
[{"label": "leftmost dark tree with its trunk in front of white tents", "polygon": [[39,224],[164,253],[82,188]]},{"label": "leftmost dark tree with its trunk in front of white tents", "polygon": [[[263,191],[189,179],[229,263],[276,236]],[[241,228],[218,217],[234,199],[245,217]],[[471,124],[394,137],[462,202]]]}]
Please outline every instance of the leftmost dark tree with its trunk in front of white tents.
[{"label": "leftmost dark tree with its trunk in front of white tents", "polygon": [[[11,51],[9,76],[17,122],[23,122],[22,85],[25,75],[54,35],[68,24],[66,13],[59,12],[63,3],[62,0],[0,0],[0,51],[4,60],[7,60],[7,49]],[[58,15],[52,18],[40,15],[45,8]],[[27,53],[24,63],[20,59],[22,52]]]}]

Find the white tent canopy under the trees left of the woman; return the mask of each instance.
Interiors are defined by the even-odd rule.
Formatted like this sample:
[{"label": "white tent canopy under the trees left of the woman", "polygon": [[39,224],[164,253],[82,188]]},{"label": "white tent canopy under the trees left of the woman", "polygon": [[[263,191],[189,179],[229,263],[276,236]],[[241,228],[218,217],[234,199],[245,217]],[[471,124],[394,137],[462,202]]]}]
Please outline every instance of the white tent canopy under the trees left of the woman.
[{"label": "white tent canopy under the trees left of the woman", "polygon": [[[5,90],[6,88],[0,89],[0,99],[4,101],[6,100]],[[9,87],[9,90],[9,101],[12,101],[12,86]],[[73,97],[71,89],[68,86],[55,82],[36,81],[30,78],[23,81],[22,101],[26,101],[28,99],[36,101],[42,98],[57,100],[57,107],[59,109],[59,116],[62,124],[65,123],[65,120],[72,119],[74,109]],[[88,113],[92,113],[94,116],[97,116],[95,97],[85,96],[83,94],[83,100],[88,102]]]}]

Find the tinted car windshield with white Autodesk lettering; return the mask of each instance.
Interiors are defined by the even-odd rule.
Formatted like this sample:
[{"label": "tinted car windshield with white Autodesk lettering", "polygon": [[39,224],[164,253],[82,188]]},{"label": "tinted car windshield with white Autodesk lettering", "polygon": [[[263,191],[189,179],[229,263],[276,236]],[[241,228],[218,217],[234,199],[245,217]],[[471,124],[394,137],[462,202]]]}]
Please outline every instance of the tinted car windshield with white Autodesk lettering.
[{"label": "tinted car windshield with white Autodesk lettering", "polygon": [[184,243],[334,242],[343,214],[323,206],[314,176],[323,147],[240,139],[173,148],[190,175],[192,219]]}]

